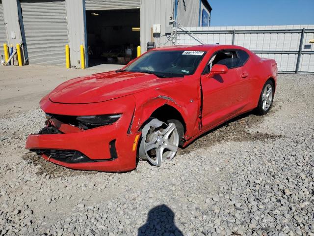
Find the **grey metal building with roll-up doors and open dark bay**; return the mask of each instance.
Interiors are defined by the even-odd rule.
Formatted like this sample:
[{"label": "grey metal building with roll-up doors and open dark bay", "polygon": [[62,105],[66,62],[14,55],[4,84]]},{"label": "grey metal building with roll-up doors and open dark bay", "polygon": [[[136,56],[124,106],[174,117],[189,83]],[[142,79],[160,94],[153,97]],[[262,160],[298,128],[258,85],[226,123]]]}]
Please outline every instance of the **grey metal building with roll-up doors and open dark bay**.
[{"label": "grey metal building with roll-up doors and open dark bay", "polygon": [[0,55],[23,42],[29,64],[64,65],[68,44],[76,68],[80,45],[86,67],[127,63],[139,45],[173,44],[179,24],[209,26],[210,11],[208,0],[0,0]]}]

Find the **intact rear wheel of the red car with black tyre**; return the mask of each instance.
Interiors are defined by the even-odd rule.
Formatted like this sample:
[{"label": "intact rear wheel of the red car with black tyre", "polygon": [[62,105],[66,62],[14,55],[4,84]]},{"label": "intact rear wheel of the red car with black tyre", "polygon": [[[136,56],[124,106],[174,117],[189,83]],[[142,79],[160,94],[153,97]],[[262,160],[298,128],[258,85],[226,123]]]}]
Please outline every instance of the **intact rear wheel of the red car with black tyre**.
[{"label": "intact rear wheel of the red car with black tyre", "polygon": [[258,115],[266,115],[274,100],[274,84],[271,80],[267,80],[261,91],[260,100],[256,112]]}]

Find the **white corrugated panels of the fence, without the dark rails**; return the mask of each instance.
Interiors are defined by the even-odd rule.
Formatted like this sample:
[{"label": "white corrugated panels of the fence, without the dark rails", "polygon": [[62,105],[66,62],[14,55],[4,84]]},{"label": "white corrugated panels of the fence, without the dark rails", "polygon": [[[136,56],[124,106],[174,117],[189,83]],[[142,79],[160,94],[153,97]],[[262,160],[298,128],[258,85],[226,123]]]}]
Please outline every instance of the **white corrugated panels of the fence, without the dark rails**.
[{"label": "white corrugated panels of the fence, without the dark rails", "polygon": [[[190,27],[190,31],[206,30],[258,30],[258,29],[314,29],[314,25],[291,26],[226,26],[226,27]],[[188,34],[177,34],[178,44],[200,44],[195,37]],[[232,44],[232,33],[195,33],[195,36],[206,44]],[[245,47],[252,51],[298,51],[301,33],[241,33],[235,34],[235,45]],[[314,51],[314,45],[310,50],[304,50],[304,45],[314,38],[314,33],[305,33],[302,50]],[[275,59],[280,71],[295,71],[296,54],[257,54],[262,58]],[[314,55],[302,55],[299,71],[314,72]]]}]

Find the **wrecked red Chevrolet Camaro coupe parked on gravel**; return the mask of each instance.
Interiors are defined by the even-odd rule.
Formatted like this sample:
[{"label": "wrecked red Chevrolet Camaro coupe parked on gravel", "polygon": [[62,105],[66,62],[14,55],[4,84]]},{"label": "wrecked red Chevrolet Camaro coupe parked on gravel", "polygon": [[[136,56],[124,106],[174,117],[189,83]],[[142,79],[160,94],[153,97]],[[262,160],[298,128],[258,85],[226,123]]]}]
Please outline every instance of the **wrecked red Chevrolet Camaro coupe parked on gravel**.
[{"label": "wrecked red Chevrolet Camaro coupe parked on gravel", "polygon": [[150,50],[120,70],[75,78],[46,95],[46,127],[26,148],[78,170],[160,166],[201,134],[271,108],[277,64],[231,45]]}]

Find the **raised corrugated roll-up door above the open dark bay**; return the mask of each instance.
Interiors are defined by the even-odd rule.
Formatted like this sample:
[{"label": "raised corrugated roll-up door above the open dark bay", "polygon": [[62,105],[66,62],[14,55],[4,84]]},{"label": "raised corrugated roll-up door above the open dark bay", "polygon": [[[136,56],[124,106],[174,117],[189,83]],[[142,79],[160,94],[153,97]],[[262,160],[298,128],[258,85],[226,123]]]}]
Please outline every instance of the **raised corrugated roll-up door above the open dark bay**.
[{"label": "raised corrugated roll-up door above the open dark bay", "polygon": [[141,0],[85,0],[86,10],[115,10],[140,8]]}]

